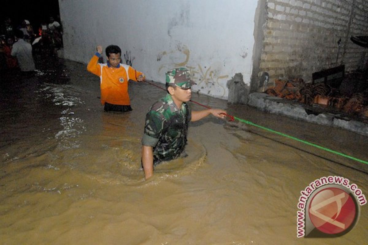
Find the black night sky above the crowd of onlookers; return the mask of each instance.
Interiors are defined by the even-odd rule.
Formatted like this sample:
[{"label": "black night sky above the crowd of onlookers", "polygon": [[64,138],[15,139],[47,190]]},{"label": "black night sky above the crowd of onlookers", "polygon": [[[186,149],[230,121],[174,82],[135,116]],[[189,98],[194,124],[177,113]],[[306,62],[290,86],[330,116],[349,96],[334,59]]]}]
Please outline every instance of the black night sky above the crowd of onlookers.
[{"label": "black night sky above the crowd of onlookers", "polygon": [[0,21],[3,24],[5,18],[10,17],[14,27],[17,27],[22,20],[27,19],[33,30],[37,30],[42,22],[49,24],[50,17],[60,23],[59,13],[59,0],[2,0]]}]

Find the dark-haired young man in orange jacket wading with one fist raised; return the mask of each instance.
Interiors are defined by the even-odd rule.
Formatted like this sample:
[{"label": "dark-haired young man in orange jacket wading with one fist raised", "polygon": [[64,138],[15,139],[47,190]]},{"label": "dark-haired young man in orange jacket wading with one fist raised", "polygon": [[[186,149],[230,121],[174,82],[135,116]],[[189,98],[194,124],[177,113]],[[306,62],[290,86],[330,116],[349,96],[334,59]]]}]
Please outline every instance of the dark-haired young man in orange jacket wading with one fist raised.
[{"label": "dark-haired young man in orange jacket wading with one fist raised", "polygon": [[100,77],[101,104],[105,111],[132,111],[128,94],[128,81],[143,82],[145,76],[129,65],[121,64],[121,49],[116,45],[106,47],[107,64],[98,63],[102,46],[87,65],[87,70]]}]

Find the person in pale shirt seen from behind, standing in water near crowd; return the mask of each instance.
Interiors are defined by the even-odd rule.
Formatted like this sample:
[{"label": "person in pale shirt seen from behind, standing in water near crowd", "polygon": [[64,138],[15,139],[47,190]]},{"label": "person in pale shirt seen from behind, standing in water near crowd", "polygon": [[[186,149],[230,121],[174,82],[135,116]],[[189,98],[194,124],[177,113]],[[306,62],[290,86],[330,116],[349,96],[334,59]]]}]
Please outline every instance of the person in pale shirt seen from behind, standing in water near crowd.
[{"label": "person in pale shirt seen from behind, standing in water near crowd", "polygon": [[11,56],[17,58],[22,72],[32,73],[36,69],[32,56],[32,46],[24,40],[24,34],[21,30],[15,30],[15,36],[17,37],[17,42],[13,44]]}]

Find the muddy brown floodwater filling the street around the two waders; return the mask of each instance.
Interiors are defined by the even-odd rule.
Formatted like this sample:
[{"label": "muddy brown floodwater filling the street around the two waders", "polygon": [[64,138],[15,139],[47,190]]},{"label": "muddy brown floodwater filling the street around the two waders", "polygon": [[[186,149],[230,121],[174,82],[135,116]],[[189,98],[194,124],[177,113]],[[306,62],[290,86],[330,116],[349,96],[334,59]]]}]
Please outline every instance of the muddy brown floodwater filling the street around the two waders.
[{"label": "muddy brown floodwater filling the street around the two waders", "polygon": [[[368,205],[339,238],[297,238],[296,224],[300,192],[323,176],[343,176],[368,197],[364,163],[209,116],[191,123],[189,156],[159,165],[145,181],[144,117],[166,92],[131,82],[133,111],[106,113],[99,78],[85,64],[39,68],[33,78],[1,78],[1,244],[367,242]],[[368,160],[368,137],[204,95],[192,100]]]}]

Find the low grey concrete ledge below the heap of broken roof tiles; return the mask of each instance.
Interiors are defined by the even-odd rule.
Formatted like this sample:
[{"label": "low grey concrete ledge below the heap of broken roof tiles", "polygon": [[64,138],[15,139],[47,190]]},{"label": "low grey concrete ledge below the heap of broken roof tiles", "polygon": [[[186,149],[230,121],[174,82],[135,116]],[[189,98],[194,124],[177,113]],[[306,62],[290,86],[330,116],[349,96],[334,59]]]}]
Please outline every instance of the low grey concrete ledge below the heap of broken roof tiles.
[{"label": "low grey concrete ledge below the heap of broken roof tiles", "polygon": [[308,114],[305,108],[292,101],[268,96],[265,93],[252,93],[249,95],[248,105],[273,114],[285,115],[294,119],[304,120],[320,125],[341,127],[355,133],[368,136],[368,124],[355,120],[343,120],[331,113]]}]

